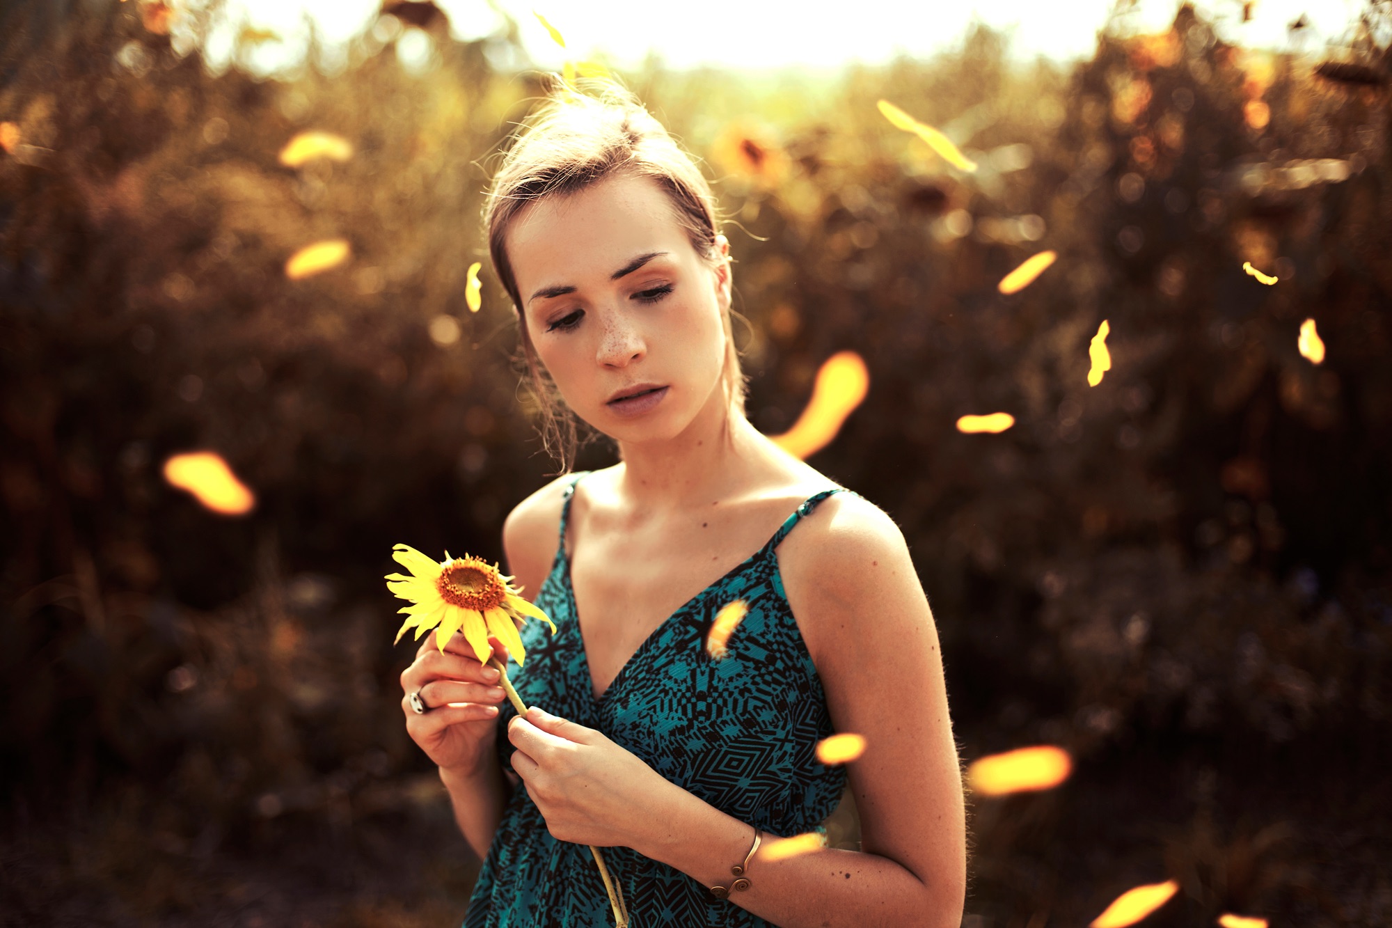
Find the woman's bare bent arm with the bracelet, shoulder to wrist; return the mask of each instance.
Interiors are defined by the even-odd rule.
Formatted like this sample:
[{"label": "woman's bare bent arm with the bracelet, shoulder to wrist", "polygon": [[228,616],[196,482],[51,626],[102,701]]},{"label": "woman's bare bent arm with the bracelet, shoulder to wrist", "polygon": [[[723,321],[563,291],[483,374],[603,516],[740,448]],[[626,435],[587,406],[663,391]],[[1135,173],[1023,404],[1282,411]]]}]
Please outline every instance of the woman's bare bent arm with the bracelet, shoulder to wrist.
[{"label": "woman's bare bent arm with the bracelet, shoulder to wrist", "polygon": [[[778,552],[788,602],[838,732],[864,736],[849,766],[862,851],[823,849],[749,865],[732,903],[786,928],[952,927],[966,893],[966,821],[942,656],[927,598],[894,521],[834,496]],[[638,850],[702,883],[728,885],[753,828],[672,786],[671,817]]]}]

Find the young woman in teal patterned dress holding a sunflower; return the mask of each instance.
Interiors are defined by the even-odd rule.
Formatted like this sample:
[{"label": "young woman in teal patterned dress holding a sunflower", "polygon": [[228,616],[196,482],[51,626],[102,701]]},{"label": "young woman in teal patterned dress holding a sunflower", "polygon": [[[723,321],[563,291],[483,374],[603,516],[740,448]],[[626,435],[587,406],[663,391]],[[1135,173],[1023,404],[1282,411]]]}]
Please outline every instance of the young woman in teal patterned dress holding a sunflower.
[{"label": "young woman in teal patterned dress holding a sunflower", "polygon": [[[401,676],[411,737],[484,857],[466,928],[612,925],[586,844],[635,928],[959,925],[962,783],[927,599],[885,513],[745,418],[700,170],[626,92],[562,92],[519,132],[486,222],[543,407],[621,461],[504,525],[558,627],[528,623],[509,665],[526,718],[462,635],[444,654],[427,637]],[[574,453],[564,418],[547,432]],[[748,613],[717,660],[706,635],[734,601]],[[820,764],[838,732],[864,754]],[[770,856],[821,829],[848,776],[862,850]]]}]

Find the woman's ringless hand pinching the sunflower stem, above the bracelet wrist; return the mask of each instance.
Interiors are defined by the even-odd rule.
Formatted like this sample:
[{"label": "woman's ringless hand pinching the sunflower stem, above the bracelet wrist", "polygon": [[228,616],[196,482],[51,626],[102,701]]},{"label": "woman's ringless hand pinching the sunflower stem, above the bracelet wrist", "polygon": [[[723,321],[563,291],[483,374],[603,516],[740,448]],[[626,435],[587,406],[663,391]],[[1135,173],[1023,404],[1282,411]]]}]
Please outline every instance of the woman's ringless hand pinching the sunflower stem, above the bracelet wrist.
[{"label": "woman's ringless hand pinching the sunflower stem, above the bracelet wrist", "polygon": [[665,821],[658,805],[671,783],[600,732],[532,706],[508,722],[508,741],[551,837],[633,847],[644,825]]}]

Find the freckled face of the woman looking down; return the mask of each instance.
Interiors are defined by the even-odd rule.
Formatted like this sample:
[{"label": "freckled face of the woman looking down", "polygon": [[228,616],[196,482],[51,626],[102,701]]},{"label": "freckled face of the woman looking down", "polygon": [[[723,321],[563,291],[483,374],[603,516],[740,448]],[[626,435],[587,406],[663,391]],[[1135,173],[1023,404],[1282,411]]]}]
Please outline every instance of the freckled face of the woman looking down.
[{"label": "freckled face of the woman looking down", "polygon": [[696,254],[653,180],[619,174],[532,203],[507,254],[537,357],[592,426],[671,439],[722,401],[729,263]]}]

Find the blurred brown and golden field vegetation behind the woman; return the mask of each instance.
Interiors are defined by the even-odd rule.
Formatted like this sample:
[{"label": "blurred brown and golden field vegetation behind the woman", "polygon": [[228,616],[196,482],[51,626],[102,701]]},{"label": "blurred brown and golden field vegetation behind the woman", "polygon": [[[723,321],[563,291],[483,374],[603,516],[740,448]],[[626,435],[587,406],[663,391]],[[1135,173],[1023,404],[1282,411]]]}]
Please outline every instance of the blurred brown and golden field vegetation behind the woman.
[{"label": "blurred brown and golden field vegetation behind the woman", "polygon": [[[554,471],[487,266],[465,305],[544,77],[515,24],[457,42],[429,3],[329,72],[214,77],[200,15],[0,3],[0,924],[458,924],[477,863],[405,736],[381,575],[395,542],[501,557]],[[1073,754],[973,801],[967,928],[1166,878],[1146,924],[1392,922],[1389,40],[1386,0],[1302,54],[1185,7],[1068,65],[977,28],[835,78],[621,75],[732,217],[753,422],[866,359],[810,461],[902,525],[963,758]],[[313,130],[351,156],[283,164]],[[191,450],[255,509],[170,486]]]}]

